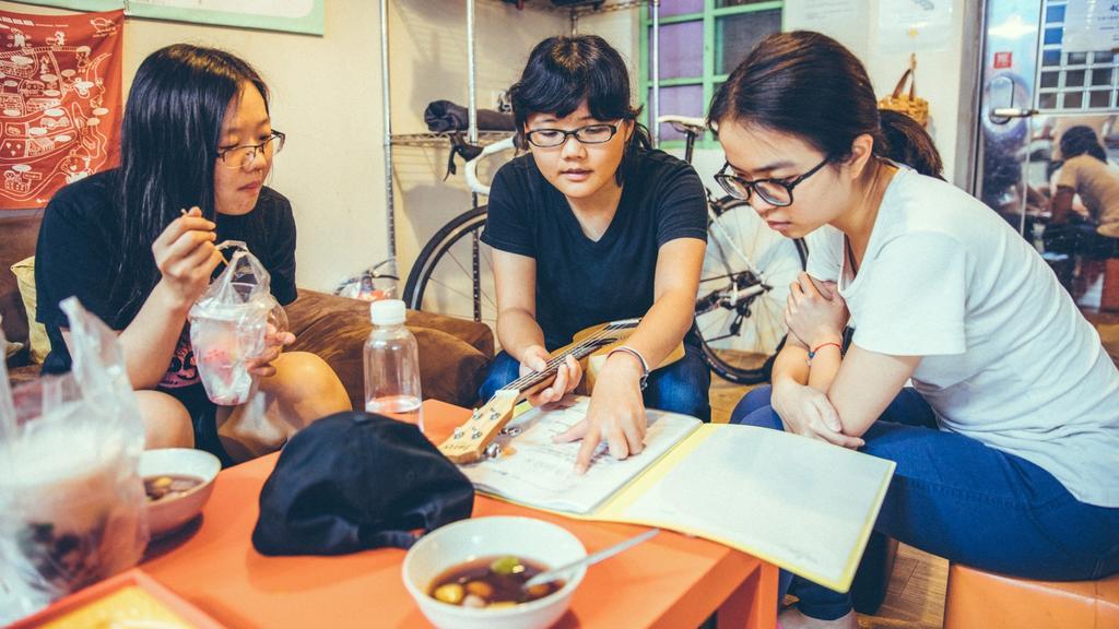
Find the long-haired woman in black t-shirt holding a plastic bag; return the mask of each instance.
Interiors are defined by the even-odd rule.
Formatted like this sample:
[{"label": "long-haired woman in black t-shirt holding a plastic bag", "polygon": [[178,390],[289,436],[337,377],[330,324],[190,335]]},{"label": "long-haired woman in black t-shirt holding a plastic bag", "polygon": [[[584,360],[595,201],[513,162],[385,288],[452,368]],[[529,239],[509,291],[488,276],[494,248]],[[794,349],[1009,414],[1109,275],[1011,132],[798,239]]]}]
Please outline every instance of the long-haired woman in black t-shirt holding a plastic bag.
[{"label": "long-haired woman in black t-shirt holding a plastic bag", "polygon": [[228,53],[182,44],[152,53],[129,93],[120,168],[59,190],[44,215],[36,254],[37,319],[51,341],[44,370],[69,368],[58,302],[77,295],[121,332],[149,448],[197,445],[243,460],[349,410],[322,359],[281,355],[294,340],[285,331],[270,330],[264,355],[250,363],[261,381],[248,403],[215,406],[198,379],[186,317],[222,261],[215,242],[245,241],[278,301],[297,297],[291,204],[263,186],[283,145],[267,94]]}]

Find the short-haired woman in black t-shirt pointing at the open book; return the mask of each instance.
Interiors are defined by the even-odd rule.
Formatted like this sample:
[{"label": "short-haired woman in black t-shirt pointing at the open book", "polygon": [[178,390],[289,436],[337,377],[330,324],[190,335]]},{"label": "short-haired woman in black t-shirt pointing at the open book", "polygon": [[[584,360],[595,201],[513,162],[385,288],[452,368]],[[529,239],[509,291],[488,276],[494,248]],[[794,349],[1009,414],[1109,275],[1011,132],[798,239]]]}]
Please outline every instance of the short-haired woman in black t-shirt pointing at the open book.
[{"label": "short-haired woman in black t-shirt pointing at the open book", "polygon": [[[606,358],[586,420],[557,438],[583,439],[584,470],[602,441],[617,458],[641,451],[646,405],[709,417],[711,374],[688,334],[705,195],[690,166],[650,149],[626,64],[602,38],[542,41],[510,96],[529,152],[505,165],[490,189],[482,241],[493,247],[504,351],[481,396],[543,369],[582,328],[643,317]],[[680,341],[684,359],[649,374]],[[532,402],[555,402],[581,377],[568,359]]]}]

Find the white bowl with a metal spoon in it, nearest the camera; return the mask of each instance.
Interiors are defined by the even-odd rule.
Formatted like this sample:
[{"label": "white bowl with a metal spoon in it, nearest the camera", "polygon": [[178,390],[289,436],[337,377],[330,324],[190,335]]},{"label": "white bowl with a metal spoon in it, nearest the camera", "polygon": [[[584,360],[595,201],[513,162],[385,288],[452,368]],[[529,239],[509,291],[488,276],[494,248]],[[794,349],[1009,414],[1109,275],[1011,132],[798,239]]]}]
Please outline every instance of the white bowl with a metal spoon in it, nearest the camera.
[{"label": "white bowl with a metal spoon in it, nearest the camera", "polygon": [[464,608],[427,594],[435,578],[451,567],[498,555],[516,555],[551,570],[585,557],[586,548],[566,529],[540,519],[464,519],[424,535],[412,546],[404,557],[404,586],[427,620],[440,629],[530,629],[549,627],[560,620],[586,573],[581,567],[558,591],[511,608]]}]

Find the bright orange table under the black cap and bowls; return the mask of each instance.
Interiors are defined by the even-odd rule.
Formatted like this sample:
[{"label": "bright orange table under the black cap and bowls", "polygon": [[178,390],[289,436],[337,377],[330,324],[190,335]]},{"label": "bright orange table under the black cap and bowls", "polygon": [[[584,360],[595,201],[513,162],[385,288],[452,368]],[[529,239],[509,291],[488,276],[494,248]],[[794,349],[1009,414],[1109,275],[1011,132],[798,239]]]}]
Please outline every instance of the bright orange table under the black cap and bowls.
[{"label": "bright orange table under the black cap and bowls", "polygon": [[[426,433],[450,434],[466,409],[424,402]],[[231,628],[427,627],[401,581],[404,551],[266,557],[250,539],[276,454],[224,470],[195,524],[149,548],[151,576]],[[564,518],[479,496],[474,516],[526,515],[571,531],[594,552],[645,529]],[[777,567],[720,544],[665,532],[587,571],[557,627],[775,626]]]}]

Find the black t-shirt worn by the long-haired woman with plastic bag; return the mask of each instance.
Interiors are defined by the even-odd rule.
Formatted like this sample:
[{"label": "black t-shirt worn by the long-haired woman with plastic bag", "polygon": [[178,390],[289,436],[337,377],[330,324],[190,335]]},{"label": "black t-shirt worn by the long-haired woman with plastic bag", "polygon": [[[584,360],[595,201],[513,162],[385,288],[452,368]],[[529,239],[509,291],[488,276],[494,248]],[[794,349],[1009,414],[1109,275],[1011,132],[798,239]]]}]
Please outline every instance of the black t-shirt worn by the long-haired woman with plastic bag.
[{"label": "black t-shirt worn by the long-haired woman with plastic bag", "polygon": [[[36,320],[46,326],[50,339],[50,354],[43,366],[45,373],[70,367],[70,355],[60,331],[69,327],[58,308],[62,300],[76,295],[86,310],[115,330],[123,330],[132,322],[132,316],[121,313],[126,291],[117,285],[122,232],[114,207],[117,172],[109,170],[66,186],[55,194],[43,215],[35,282]],[[248,214],[218,215],[216,232],[217,242],[234,240],[248,245],[269,270],[276,301],[286,306],[295,300],[295,219],[291,203],[283,195],[262,188],[256,207]],[[222,269],[218,266],[215,273]],[[182,397],[187,389],[199,386],[189,326],[184,326],[160,388]]]}]

